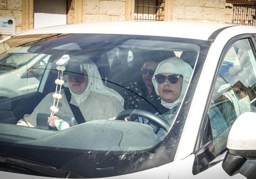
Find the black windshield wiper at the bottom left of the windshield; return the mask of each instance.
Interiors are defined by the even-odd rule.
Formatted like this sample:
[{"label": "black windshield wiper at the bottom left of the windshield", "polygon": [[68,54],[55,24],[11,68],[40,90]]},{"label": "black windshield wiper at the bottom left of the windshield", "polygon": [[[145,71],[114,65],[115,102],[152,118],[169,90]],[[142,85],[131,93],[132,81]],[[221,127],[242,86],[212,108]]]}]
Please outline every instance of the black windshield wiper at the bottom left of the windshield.
[{"label": "black windshield wiper at the bottom left of the windshield", "polygon": [[[40,164],[26,159],[20,159],[13,156],[0,154],[0,168],[9,168],[12,171],[22,174],[34,174],[38,176],[56,177],[56,178],[84,178],[70,171],[56,169],[50,165]],[[22,172],[21,172],[22,171]]]}]

